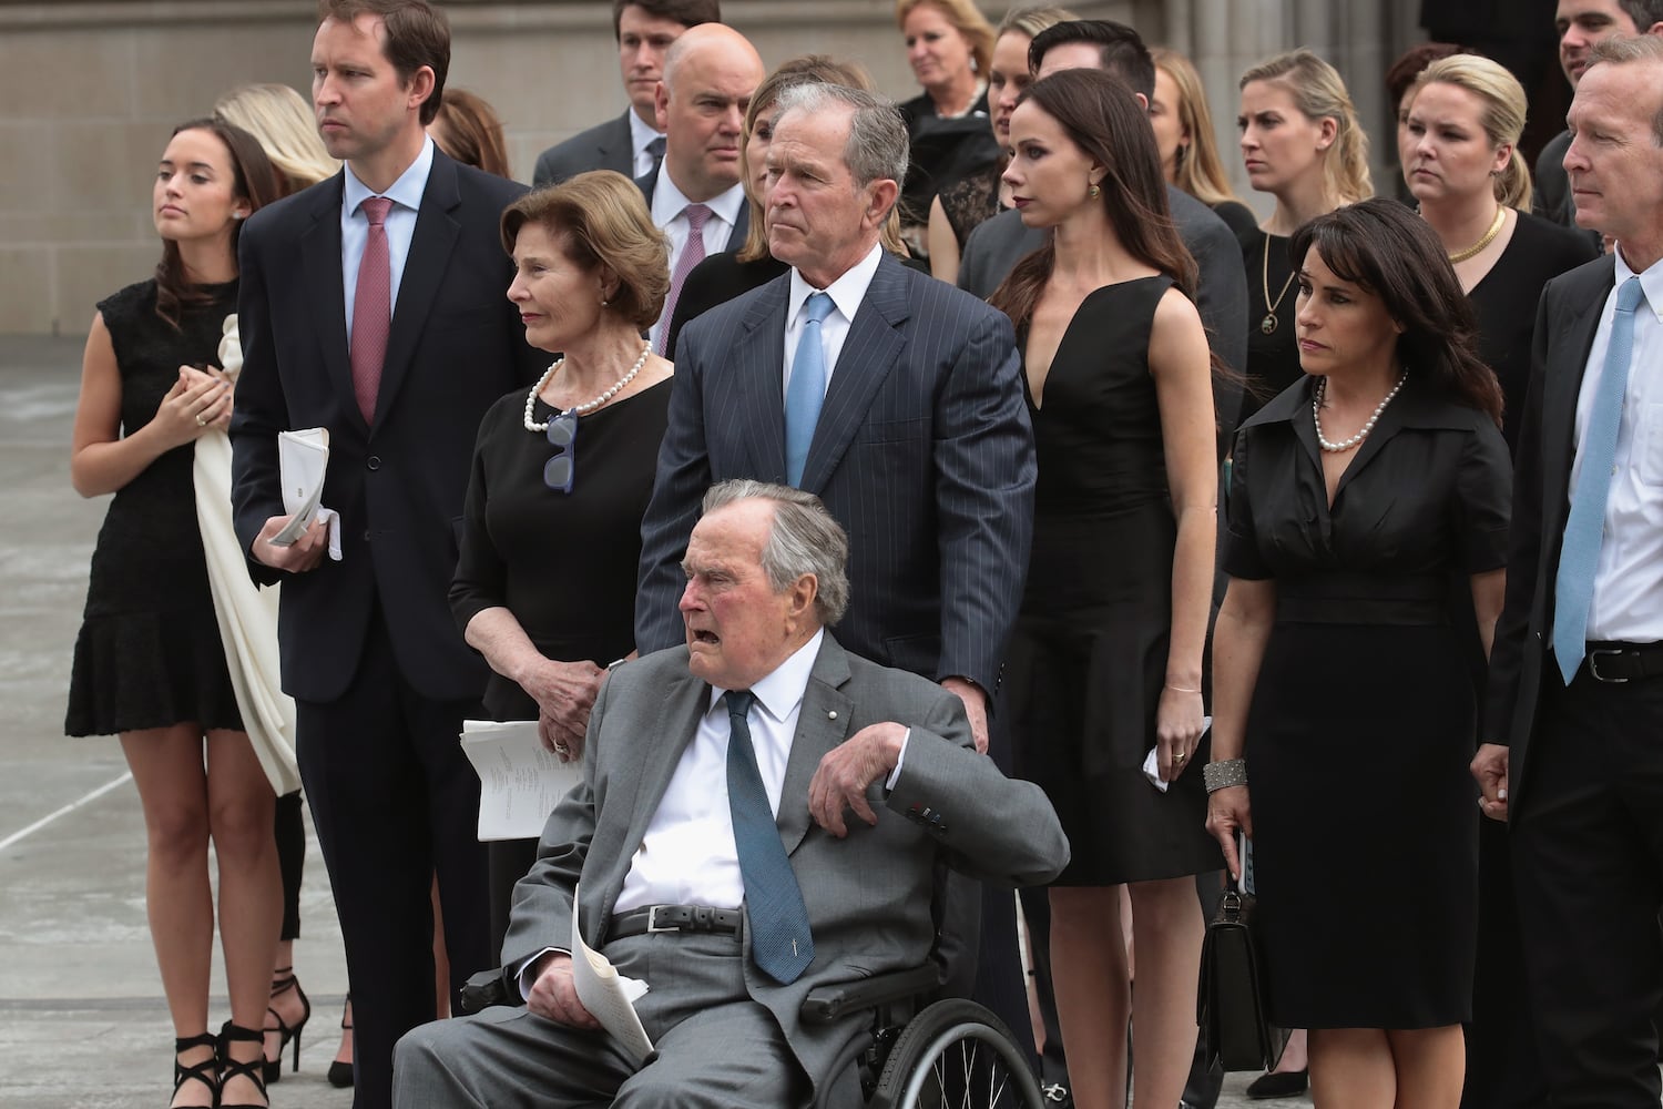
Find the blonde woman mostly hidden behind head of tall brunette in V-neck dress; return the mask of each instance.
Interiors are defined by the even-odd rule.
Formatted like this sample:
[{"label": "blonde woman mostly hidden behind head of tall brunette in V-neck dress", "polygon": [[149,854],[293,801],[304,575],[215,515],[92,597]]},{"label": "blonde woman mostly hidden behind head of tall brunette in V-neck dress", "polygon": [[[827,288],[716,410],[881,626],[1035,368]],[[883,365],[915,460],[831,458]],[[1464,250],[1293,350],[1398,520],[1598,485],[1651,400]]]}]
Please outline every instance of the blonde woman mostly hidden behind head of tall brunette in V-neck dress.
[{"label": "blonde woman mostly hidden behind head of tall brunette in V-neck dress", "polygon": [[1154,143],[1161,150],[1161,173],[1166,183],[1211,208],[1237,238],[1251,233],[1259,219],[1236,196],[1229,175],[1224,173],[1201,73],[1189,58],[1166,47],[1156,47],[1149,57],[1154,60],[1149,125],[1154,126]]}]

